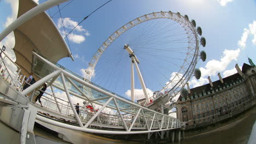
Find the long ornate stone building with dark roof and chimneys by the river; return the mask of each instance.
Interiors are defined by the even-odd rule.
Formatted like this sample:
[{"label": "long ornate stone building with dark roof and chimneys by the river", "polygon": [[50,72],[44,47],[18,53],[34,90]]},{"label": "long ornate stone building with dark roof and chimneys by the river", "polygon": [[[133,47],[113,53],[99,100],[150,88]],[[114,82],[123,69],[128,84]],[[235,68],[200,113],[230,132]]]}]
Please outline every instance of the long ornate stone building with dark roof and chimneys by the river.
[{"label": "long ornate stone building with dark roof and chimneys by the river", "polygon": [[188,89],[188,97],[177,100],[177,118],[186,129],[210,125],[249,109],[256,104],[256,67],[236,64],[237,73],[200,87]]}]

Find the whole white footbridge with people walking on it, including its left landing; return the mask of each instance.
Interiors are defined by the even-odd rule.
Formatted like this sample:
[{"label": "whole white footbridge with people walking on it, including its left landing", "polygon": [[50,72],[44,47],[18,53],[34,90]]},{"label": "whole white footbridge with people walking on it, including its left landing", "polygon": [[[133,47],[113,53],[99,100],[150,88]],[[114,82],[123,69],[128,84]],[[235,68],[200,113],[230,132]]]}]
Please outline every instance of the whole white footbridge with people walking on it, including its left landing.
[{"label": "whole white footbridge with people walking on it, including its left landing", "polygon": [[[8,81],[1,77],[1,116],[0,119],[11,128],[20,132],[20,141],[33,141],[35,121],[58,127],[84,131],[86,133],[133,135],[143,134],[144,140],[172,140],[181,138],[179,119],[164,115],[138,105],[131,100],[108,91],[56,63],[51,63],[37,53],[33,53],[34,75],[40,77],[36,83],[21,91],[22,78]],[[42,97],[44,107],[34,104],[38,89],[47,83],[48,89]],[[57,97],[65,93],[67,99]],[[79,98],[85,101],[80,113],[75,111]],[[93,109],[87,109],[85,105]],[[98,110],[95,110],[96,107]],[[152,136],[154,134],[154,136]],[[184,135],[183,135],[184,136]],[[7,139],[7,138],[5,138]]]}]

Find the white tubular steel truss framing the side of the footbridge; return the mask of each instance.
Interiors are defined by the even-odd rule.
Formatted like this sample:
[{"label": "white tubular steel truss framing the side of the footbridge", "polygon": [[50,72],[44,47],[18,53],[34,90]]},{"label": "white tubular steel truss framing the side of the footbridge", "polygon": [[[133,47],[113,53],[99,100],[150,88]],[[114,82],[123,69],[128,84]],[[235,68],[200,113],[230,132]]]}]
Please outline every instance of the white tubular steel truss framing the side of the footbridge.
[{"label": "white tubular steel truss framing the side of the footbridge", "polygon": [[[73,115],[75,116],[75,119],[77,121],[77,126],[70,125],[67,123],[57,122],[57,121],[54,121],[53,119],[49,119],[49,118],[45,118],[40,115],[37,115],[36,118],[39,121],[43,121],[49,124],[54,124],[63,128],[80,130],[80,131],[85,131],[89,133],[101,133],[101,134],[141,134],[141,133],[152,133],[156,131],[165,131],[165,130],[180,128],[180,125],[178,124],[180,122],[176,118],[147,109],[146,107],[137,105],[136,103],[126,100],[116,94],[105,91],[105,89],[96,87],[92,85],[92,83],[86,82],[80,79],[79,77],[76,77],[68,73],[67,71],[57,67],[53,63],[37,55],[37,53],[33,53],[33,55],[38,57],[42,61],[44,61],[45,64],[48,64],[50,67],[55,69],[55,71],[43,77],[42,79],[40,79],[39,81],[37,81],[36,83],[28,87],[27,89],[25,89],[23,92],[21,92],[21,94],[26,95],[28,93],[31,93],[34,91],[34,89],[36,89],[37,87],[39,87],[45,82],[52,83],[51,87],[56,87],[66,93],[68,98],[68,104],[69,104],[69,107],[71,107],[71,111]],[[62,82],[63,87],[56,85],[56,81],[57,81],[56,77],[58,76],[61,77],[60,80]],[[53,82],[53,80],[55,81]],[[102,99],[104,99],[104,103],[100,103],[99,102],[100,99],[93,100],[93,98],[87,97],[86,94],[81,91],[81,89],[79,89],[80,94],[70,91],[70,89],[67,87],[67,82],[69,82],[77,90],[79,89],[79,87],[75,82],[79,82],[83,84],[83,86],[90,88],[92,91],[97,91],[101,94],[106,95],[107,97],[103,97]],[[89,119],[85,121],[84,118],[81,118],[80,116],[77,115],[77,112],[75,111],[73,106],[73,101],[71,100],[71,95],[73,95],[72,97],[79,97],[84,100],[88,100],[92,105],[101,105],[101,107],[97,112],[90,113]],[[50,101],[55,101],[55,100],[54,99],[49,100],[48,103],[50,103]],[[55,101],[54,103],[59,105],[61,104],[60,100],[58,102]],[[111,103],[113,103],[113,105],[111,105]],[[130,105],[130,108],[121,109],[120,106],[122,104],[128,104]],[[106,109],[106,108],[117,111],[117,115],[107,116],[106,113],[102,112],[103,109]],[[45,106],[44,109],[40,108],[40,111],[50,113],[51,110],[49,109],[50,107]],[[61,110],[60,112],[59,110],[56,109],[55,113],[57,112],[60,114],[58,115],[55,114],[55,117],[61,117],[62,119],[73,119],[70,116],[67,116],[67,114],[63,115],[63,113],[65,113],[63,110]],[[104,117],[105,119],[102,119],[102,117]],[[92,125],[101,125],[102,129],[94,129]],[[103,130],[108,128],[109,130]],[[114,130],[110,128],[114,128]]]}]

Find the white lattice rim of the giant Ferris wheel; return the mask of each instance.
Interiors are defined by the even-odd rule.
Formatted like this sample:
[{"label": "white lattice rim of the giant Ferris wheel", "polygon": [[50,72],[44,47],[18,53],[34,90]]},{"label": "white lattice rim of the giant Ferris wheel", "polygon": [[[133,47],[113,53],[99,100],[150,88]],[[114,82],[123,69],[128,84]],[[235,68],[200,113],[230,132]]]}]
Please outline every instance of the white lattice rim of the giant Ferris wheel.
[{"label": "white lattice rim of the giant Ferris wheel", "polygon": [[[162,89],[165,89],[168,85],[170,85],[170,83],[172,83],[172,81],[174,79],[177,79],[177,77],[179,77],[178,78],[179,81],[175,82],[175,86],[170,91],[168,91],[168,92],[173,92],[174,95],[176,95],[176,93],[175,93],[176,89],[179,88],[180,86],[182,86],[180,88],[183,88],[185,86],[185,83],[188,82],[189,78],[194,73],[194,71],[192,71],[192,70],[195,69],[195,65],[197,63],[197,57],[199,55],[199,41],[198,41],[199,35],[196,33],[196,30],[195,30],[195,28],[193,26],[193,23],[191,23],[187,19],[187,17],[184,17],[184,16],[182,16],[179,13],[172,13],[171,11],[160,11],[160,12],[156,12],[156,13],[146,14],[146,15],[143,15],[141,17],[137,17],[136,19],[133,19],[130,22],[127,22],[125,25],[120,27],[117,31],[115,31],[112,35],[110,35],[107,38],[107,40],[104,41],[104,43],[100,46],[100,48],[97,49],[95,55],[92,57],[89,65],[88,65],[88,69],[86,69],[87,71],[86,71],[86,74],[85,74],[84,78],[89,80],[89,81],[91,80],[91,77],[92,77],[92,75],[94,73],[94,70],[95,70],[97,62],[100,60],[100,57],[102,56],[104,51],[106,51],[108,46],[110,44],[112,44],[112,42],[115,39],[117,39],[124,32],[128,31],[130,28],[132,28],[132,27],[134,27],[136,25],[139,25],[140,23],[143,23],[143,22],[146,22],[146,21],[150,21],[150,20],[154,20],[154,19],[171,19],[173,21],[176,21],[180,25],[183,25],[183,27],[187,28],[187,29],[184,28],[185,31],[187,31],[187,34],[188,34],[188,31],[192,32],[193,36],[194,36],[194,39],[195,39],[194,41],[195,41],[196,45],[195,45],[195,47],[193,49],[194,50],[194,53],[192,53],[193,58],[192,58],[192,61],[189,63],[189,68],[187,70],[185,70],[184,74],[181,77],[179,77],[178,74],[179,74],[179,72],[181,72],[182,68],[179,69],[177,75],[174,76],[173,79],[170,80],[169,83],[164,88],[162,88]],[[127,26],[129,26],[129,27],[127,27]],[[188,49],[190,49],[190,47],[188,47]],[[187,57],[188,57],[188,54],[187,54]],[[182,67],[184,67],[184,64],[185,64],[185,61],[184,61],[183,65],[182,65]],[[186,75],[186,74],[188,74],[188,75]],[[182,80],[184,80],[184,81],[182,81]],[[161,91],[162,91],[162,89],[161,89]]]}]

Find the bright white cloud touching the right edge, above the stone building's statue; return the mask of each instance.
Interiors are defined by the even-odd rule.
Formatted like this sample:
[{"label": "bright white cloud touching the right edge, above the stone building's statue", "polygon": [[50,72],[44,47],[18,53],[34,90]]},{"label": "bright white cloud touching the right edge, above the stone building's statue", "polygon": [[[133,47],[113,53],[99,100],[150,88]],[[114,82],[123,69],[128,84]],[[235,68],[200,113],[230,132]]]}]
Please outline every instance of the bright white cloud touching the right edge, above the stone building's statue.
[{"label": "bright white cloud touching the right edge, above the stone building's statue", "polygon": [[252,43],[256,45],[256,21],[249,23],[249,28],[243,29],[241,39],[238,41],[238,46],[242,49],[245,49],[249,35],[253,35]]}]

